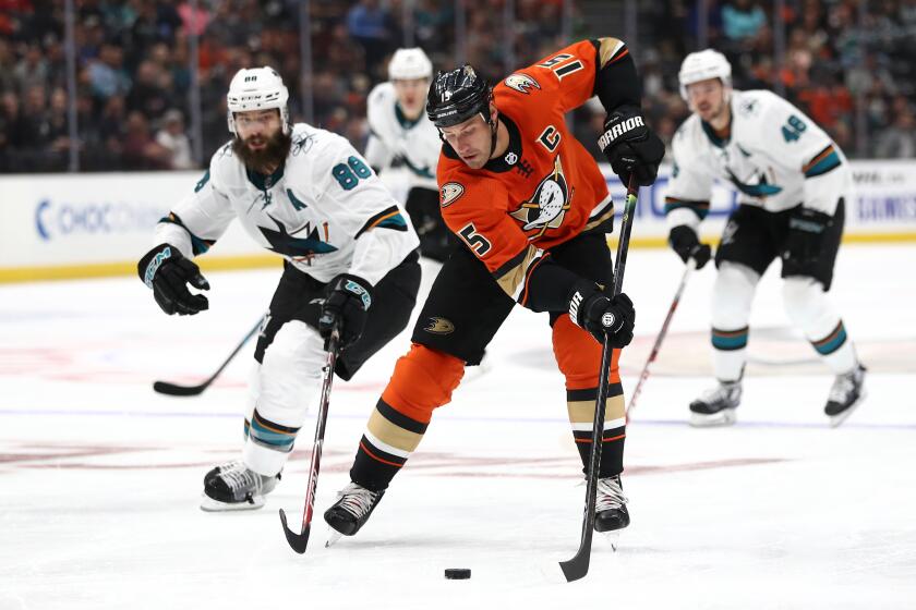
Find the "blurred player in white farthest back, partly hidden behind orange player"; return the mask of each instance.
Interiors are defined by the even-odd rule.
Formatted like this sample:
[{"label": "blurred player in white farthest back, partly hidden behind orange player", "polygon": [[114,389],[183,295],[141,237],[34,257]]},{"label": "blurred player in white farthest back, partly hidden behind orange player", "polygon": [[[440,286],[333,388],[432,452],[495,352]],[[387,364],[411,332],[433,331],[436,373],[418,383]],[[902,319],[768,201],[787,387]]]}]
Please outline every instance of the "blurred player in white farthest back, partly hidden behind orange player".
[{"label": "blurred player in white farthest back, partly hidden behind orange player", "polygon": [[409,172],[405,207],[420,236],[420,254],[445,260],[451,244],[439,212],[436,163],[442,142],[424,111],[433,64],[419,47],[398,49],[388,63],[388,82],[366,100],[369,142],[365,158],[382,172],[395,160]]}]

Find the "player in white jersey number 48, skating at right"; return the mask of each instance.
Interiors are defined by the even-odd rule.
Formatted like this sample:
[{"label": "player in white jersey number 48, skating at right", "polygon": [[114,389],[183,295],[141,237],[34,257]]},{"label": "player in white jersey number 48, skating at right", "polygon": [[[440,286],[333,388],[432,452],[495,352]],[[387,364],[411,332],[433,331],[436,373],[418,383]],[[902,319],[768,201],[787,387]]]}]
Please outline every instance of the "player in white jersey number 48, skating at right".
[{"label": "player in white jersey number 48, skating at right", "polygon": [[827,295],[852,200],[849,164],[792,103],[767,90],[733,90],[732,66],[722,53],[688,54],[678,76],[694,113],[672,143],[665,200],[672,248],[685,263],[694,258],[697,268],[709,261],[698,228],[714,180],[736,188],[739,203],[715,253],[712,346],[719,385],[690,403],[690,423],[735,422],[751,301],[760,277],[781,258],[786,314],[836,376],[824,412],[839,425],[865,396],[865,367]]}]

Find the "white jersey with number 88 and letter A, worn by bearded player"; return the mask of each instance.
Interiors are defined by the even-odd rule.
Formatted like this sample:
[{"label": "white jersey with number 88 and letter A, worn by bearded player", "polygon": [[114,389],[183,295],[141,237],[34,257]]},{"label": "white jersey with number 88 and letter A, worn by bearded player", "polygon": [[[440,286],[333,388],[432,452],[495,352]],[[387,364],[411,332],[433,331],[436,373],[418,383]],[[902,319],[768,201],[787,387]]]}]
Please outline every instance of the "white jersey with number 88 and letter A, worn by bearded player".
[{"label": "white jersey with number 88 and letter A, worn by bearded player", "polygon": [[156,243],[190,258],[238,218],[258,245],[318,281],[352,273],[377,283],[420,244],[407,212],[347,139],[305,123],[291,135],[286,163],[269,176],[222,146],[156,225]]}]

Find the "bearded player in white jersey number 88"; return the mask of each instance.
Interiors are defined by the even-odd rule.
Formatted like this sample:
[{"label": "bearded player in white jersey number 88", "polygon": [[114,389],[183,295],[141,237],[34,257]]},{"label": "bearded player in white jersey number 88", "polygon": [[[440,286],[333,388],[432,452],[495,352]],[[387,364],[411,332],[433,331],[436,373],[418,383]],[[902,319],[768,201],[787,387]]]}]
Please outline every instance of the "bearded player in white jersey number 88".
[{"label": "bearded player in white jersey number 88", "polygon": [[162,310],[193,315],[207,298],[186,284],[209,284],[191,259],[233,219],[285,259],[255,349],[242,455],[207,473],[204,510],[263,505],[321,387],[332,328],[341,345],[335,373],[349,379],[405,328],[420,285],[419,240],[399,205],[345,138],[291,125],[288,97],[270,68],[236,74],[232,139],[157,224],[159,245],[138,264]]}]

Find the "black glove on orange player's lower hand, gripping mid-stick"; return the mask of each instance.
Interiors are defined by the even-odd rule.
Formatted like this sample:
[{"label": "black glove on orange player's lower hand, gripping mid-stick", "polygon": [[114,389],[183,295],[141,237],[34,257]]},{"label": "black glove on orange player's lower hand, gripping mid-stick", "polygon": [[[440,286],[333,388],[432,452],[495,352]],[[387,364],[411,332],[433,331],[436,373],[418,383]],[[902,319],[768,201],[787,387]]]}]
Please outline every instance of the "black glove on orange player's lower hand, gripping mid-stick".
[{"label": "black glove on orange player's lower hand, gripping mid-stick", "polygon": [[599,343],[604,342],[605,332],[608,344],[615,349],[626,347],[632,341],[636,309],[626,294],[608,298],[596,285],[588,286],[581,282],[569,298],[569,317]]}]

